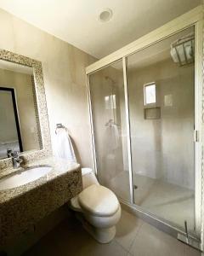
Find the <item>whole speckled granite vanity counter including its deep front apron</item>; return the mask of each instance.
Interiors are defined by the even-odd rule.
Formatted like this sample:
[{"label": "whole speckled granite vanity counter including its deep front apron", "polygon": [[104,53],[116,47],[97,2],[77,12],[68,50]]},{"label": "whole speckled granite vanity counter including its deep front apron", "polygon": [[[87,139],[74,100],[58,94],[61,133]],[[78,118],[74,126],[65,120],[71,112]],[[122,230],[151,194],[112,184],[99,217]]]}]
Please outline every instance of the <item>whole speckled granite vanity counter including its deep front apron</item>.
[{"label": "whole speckled granite vanity counter including its deep front apron", "polygon": [[[26,167],[45,165],[52,167],[45,176],[0,191],[0,248],[82,191],[79,164],[50,157],[32,161]],[[20,169],[3,169],[0,178],[18,171]]]}]

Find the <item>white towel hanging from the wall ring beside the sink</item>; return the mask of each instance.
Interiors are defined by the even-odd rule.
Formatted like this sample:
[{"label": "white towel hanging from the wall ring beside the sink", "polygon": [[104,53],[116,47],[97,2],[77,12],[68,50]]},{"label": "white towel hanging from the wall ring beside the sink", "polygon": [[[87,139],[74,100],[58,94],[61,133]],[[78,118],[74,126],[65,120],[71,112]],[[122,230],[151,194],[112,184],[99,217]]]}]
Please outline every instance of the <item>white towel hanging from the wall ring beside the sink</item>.
[{"label": "white towel hanging from the wall ring beside the sink", "polygon": [[65,129],[57,129],[55,137],[55,154],[70,162],[77,162],[71,138]]}]

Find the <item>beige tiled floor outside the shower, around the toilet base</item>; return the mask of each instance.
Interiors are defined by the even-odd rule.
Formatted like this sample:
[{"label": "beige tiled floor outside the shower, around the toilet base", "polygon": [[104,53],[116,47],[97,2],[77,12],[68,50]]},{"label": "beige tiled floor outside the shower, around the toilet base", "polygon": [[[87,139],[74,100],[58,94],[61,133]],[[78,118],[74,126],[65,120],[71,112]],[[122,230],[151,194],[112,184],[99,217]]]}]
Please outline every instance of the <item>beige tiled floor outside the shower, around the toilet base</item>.
[{"label": "beige tiled floor outside the shower, around the toilet base", "polygon": [[76,218],[59,224],[24,256],[200,256],[200,253],[122,210],[116,238],[99,244]]}]

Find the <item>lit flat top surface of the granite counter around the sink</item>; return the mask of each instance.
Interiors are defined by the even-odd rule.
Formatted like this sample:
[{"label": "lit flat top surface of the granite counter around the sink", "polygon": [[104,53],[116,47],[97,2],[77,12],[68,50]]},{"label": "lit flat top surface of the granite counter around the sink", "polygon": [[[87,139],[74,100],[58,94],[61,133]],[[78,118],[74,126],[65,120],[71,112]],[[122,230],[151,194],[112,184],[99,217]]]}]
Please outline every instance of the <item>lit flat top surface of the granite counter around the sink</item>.
[{"label": "lit flat top surface of the granite counter around the sink", "polygon": [[[48,172],[45,176],[38,178],[37,180],[26,183],[20,187],[16,187],[14,189],[5,189],[0,190],[0,204],[6,203],[10,200],[13,200],[15,197],[25,194],[31,189],[37,189],[37,187],[42,186],[44,183],[49,183],[54,180],[56,177],[60,177],[63,175],[67,175],[68,172],[74,172],[77,169],[80,169],[80,165],[77,163],[69,163],[67,160],[58,159],[55,157],[49,157],[47,159],[35,160],[32,163],[29,163],[28,166],[24,168],[28,168],[31,166],[51,166],[52,170]],[[19,172],[20,169],[4,169],[0,172],[0,178],[3,178],[9,174],[13,174],[14,172]]]}]

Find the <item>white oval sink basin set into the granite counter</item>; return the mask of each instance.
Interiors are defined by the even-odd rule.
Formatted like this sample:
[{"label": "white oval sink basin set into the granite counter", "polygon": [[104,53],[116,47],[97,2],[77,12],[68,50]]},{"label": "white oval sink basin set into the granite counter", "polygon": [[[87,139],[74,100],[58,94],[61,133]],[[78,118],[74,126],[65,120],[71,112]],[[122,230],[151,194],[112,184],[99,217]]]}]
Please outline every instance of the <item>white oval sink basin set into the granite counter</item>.
[{"label": "white oval sink basin set into the granite counter", "polygon": [[14,189],[26,183],[31,183],[45,176],[51,169],[51,166],[33,166],[14,172],[0,179],[0,191],[4,189]]}]

